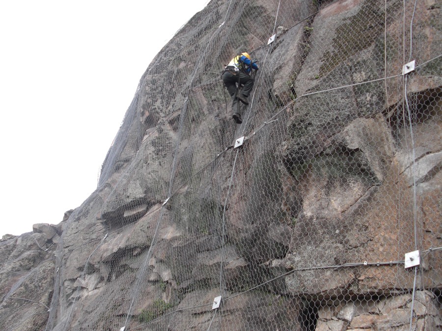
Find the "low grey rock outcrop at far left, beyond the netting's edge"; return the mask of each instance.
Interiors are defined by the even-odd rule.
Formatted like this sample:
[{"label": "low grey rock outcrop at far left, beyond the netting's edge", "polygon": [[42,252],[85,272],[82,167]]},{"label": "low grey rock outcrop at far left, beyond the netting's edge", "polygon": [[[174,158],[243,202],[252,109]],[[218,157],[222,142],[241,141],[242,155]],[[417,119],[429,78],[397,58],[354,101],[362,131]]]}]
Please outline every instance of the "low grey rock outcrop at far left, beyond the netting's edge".
[{"label": "low grey rock outcrop at far left, beyond the netting's edge", "polygon": [[48,321],[55,273],[52,239],[59,238],[58,227],[33,228],[0,242],[0,321],[8,330],[44,330]]}]

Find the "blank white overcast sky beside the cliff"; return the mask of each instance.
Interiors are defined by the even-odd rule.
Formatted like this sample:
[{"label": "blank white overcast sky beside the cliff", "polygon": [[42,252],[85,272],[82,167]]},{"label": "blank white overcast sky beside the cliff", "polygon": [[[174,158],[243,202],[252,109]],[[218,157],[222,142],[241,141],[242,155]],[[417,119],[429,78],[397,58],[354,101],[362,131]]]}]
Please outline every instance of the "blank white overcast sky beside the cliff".
[{"label": "blank white overcast sky beside the cliff", "polygon": [[0,236],[95,190],[139,78],[208,2],[0,2]]}]

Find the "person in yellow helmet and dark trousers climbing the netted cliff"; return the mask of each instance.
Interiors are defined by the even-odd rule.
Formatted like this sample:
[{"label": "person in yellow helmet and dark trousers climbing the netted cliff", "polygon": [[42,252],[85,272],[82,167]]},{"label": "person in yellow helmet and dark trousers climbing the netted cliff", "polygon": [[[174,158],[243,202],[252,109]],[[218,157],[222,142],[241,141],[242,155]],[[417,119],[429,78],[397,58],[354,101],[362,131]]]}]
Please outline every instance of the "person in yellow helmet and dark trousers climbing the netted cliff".
[{"label": "person in yellow helmet and dark trousers climbing the netted cliff", "polygon": [[221,75],[222,81],[232,97],[232,117],[237,124],[243,123],[238,100],[246,105],[249,104],[247,98],[254,82],[253,77],[250,76],[251,70],[258,70],[258,65],[255,62],[251,60],[249,53],[244,52],[235,56]]}]

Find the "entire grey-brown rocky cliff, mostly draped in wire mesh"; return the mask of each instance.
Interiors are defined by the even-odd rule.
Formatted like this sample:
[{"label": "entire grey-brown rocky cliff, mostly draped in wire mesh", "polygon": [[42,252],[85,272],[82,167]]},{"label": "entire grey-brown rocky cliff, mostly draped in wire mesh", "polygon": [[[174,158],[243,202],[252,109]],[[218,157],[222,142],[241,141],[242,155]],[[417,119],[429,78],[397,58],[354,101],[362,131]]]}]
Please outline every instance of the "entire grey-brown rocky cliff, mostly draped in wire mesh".
[{"label": "entire grey-brown rocky cliff, mostly draped in wire mesh", "polygon": [[[0,326],[441,329],[441,10],[212,0],[141,77],[97,190],[3,237]],[[243,51],[237,126],[220,72]]]}]

